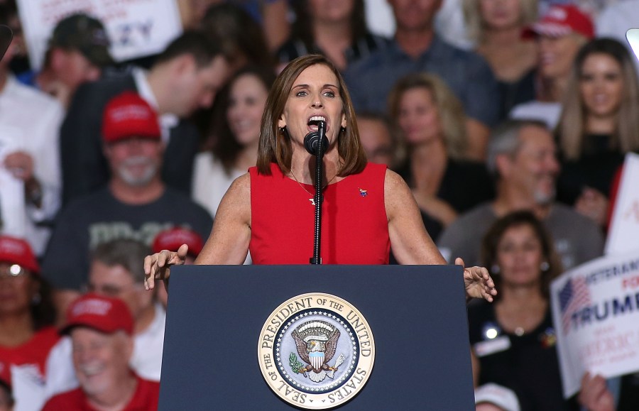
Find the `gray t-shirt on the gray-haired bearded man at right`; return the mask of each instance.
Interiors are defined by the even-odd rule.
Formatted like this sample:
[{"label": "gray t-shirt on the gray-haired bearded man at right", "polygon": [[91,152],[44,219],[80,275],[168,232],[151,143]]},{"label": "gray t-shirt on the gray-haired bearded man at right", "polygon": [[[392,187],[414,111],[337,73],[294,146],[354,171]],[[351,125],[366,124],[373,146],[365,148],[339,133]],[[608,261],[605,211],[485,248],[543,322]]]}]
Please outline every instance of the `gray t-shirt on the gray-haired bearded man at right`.
[{"label": "gray t-shirt on the gray-haired bearded man at right", "polygon": [[[481,204],[450,224],[439,236],[437,246],[450,263],[461,257],[466,265],[481,263],[481,241],[497,220],[491,203]],[[543,221],[555,242],[564,269],[603,254],[603,234],[587,217],[564,204],[555,203]]]}]

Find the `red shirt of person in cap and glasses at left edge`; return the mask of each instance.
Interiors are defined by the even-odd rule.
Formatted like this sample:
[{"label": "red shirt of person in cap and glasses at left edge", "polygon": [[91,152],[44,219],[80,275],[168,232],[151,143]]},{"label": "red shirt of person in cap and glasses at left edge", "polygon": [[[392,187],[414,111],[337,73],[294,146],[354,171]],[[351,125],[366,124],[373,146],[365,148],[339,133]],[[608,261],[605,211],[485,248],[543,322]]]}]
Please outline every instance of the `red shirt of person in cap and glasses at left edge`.
[{"label": "red shirt of person in cap and glasses at left edge", "polygon": [[0,346],[0,376],[9,379],[11,366],[33,365],[38,367],[40,376],[44,378],[47,356],[59,339],[60,335],[55,327],[44,327],[20,346]]}]

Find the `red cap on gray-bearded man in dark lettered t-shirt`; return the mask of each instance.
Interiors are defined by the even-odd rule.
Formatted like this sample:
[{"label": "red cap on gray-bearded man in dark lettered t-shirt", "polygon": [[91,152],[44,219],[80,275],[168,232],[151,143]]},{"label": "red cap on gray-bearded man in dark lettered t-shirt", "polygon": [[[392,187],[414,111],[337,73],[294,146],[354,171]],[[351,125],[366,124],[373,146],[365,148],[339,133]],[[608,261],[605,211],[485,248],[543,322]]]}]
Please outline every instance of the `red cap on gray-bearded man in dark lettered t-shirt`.
[{"label": "red cap on gray-bearded man in dark lettered t-shirt", "polygon": [[106,143],[133,137],[160,140],[158,114],[135,92],[124,92],[109,100],[102,115],[102,138]]}]

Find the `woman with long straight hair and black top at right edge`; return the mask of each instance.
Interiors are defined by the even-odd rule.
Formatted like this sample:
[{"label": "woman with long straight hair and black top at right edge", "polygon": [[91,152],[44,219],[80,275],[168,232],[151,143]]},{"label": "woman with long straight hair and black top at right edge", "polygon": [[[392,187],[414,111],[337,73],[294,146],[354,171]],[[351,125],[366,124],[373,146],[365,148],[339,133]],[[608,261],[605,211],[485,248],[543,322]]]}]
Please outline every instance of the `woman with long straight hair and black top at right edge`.
[{"label": "woman with long straight hair and black top at right edge", "polygon": [[626,153],[639,150],[638,112],[639,83],[626,47],[599,38],[581,48],[557,127],[558,194],[602,226],[615,172]]}]

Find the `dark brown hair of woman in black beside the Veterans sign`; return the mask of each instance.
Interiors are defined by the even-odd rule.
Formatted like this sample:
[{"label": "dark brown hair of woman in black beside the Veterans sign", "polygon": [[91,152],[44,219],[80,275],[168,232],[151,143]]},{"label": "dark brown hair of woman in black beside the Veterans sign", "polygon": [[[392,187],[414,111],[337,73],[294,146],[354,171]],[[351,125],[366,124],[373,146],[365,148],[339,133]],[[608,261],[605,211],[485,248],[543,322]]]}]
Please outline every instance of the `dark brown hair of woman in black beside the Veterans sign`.
[{"label": "dark brown hair of woman in black beside the Veterans sign", "polygon": [[[481,241],[481,263],[491,272],[495,287],[499,290],[501,286],[501,275],[498,273],[498,270],[496,270],[496,267],[498,267],[497,251],[499,242],[508,229],[518,226],[530,226],[541,244],[542,256],[544,261],[548,263],[548,268],[543,270],[540,267],[540,292],[542,297],[548,300],[550,298],[550,282],[562,273],[563,268],[550,234],[548,234],[548,231],[540,219],[537,219],[532,212],[511,212],[495,221],[491,228],[488,229],[484,240]],[[495,300],[498,300],[498,296],[496,296]]]}]

